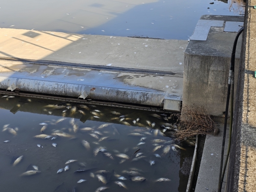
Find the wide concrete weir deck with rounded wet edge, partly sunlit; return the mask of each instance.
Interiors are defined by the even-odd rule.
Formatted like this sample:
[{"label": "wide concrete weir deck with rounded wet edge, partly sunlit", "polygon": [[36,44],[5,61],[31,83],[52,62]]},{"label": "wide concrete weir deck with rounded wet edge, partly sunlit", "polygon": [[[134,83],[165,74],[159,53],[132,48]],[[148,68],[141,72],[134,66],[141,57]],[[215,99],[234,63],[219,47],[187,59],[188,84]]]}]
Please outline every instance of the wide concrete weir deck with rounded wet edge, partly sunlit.
[{"label": "wide concrete weir deck with rounded wet edge, partly sunlit", "polygon": [[179,111],[187,41],[0,29],[0,89]]}]

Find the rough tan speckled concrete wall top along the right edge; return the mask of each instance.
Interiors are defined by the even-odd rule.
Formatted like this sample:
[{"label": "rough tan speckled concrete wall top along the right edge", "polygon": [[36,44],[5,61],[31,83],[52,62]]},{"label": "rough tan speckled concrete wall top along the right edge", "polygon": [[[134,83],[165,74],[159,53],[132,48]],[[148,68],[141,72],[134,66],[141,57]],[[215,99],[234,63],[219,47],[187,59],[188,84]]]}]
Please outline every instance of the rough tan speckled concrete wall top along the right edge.
[{"label": "rough tan speckled concrete wall top along the right edge", "polygon": [[256,190],[256,0],[247,1],[227,191]]}]

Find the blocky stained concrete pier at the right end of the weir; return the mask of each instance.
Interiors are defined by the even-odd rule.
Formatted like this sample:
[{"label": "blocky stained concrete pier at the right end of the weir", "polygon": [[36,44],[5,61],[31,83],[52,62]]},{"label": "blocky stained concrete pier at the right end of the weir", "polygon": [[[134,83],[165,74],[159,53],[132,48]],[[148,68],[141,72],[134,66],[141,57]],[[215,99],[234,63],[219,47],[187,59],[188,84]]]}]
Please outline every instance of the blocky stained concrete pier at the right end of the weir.
[{"label": "blocky stained concrete pier at the right end of the weir", "polygon": [[[216,20],[224,24],[211,26],[207,41],[189,41],[184,61],[183,104],[204,106],[209,114],[224,116],[230,58],[237,34],[224,32],[224,25],[227,21],[243,21],[244,17],[203,15],[200,20]],[[235,91],[240,52],[241,37],[236,48]]]}]

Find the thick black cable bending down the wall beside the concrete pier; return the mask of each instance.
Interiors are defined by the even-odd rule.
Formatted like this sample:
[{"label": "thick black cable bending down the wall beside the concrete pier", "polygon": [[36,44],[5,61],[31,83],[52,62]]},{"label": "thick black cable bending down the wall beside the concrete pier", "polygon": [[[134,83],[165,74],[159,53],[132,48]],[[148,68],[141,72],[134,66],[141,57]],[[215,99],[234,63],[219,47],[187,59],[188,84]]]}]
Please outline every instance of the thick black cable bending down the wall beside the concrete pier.
[{"label": "thick black cable bending down the wall beside the concrete pier", "polygon": [[220,166],[219,180],[218,180],[218,192],[221,192],[221,187],[222,187],[222,183],[223,183],[223,180],[221,180],[221,175],[222,175],[223,156],[224,156],[226,131],[227,131],[227,115],[228,115],[228,105],[229,105],[229,100],[230,100],[230,88],[231,88],[232,76],[234,75],[234,70],[235,70],[236,44],[237,44],[237,41],[238,41],[238,38],[239,38],[241,32],[243,32],[243,31],[244,31],[244,27],[241,27],[241,29],[239,29],[239,31],[236,35],[236,39],[234,41],[232,55],[231,55],[231,61],[230,61],[230,71],[229,71],[228,87],[227,87],[227,102],[226,102],[224,129],[223,129],[223,140],[222,140],[222,148],[221,148],[221,166]]}]

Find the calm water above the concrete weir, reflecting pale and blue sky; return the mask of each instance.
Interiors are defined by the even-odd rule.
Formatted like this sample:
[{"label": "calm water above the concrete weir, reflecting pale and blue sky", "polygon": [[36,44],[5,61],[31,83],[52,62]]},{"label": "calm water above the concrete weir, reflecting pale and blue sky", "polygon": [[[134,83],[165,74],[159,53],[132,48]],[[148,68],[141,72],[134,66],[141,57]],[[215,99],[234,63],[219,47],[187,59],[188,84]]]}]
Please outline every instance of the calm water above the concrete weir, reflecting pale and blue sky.
[{"label": "calm water above the concrete weir, reflecting pale and blue sky", "polygon": [[242,0],[5,0],[0,27],[187,40],[201,15],[244,14],[242,5]]}]

